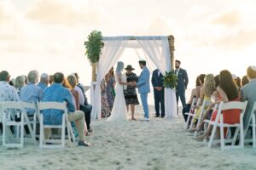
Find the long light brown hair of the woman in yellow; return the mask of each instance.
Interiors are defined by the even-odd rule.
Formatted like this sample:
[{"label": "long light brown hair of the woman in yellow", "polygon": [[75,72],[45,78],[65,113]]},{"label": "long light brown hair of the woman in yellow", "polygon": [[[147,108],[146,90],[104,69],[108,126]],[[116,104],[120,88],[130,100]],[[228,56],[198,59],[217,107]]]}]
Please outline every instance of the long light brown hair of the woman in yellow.
[{"label": "long light brown hair of the woman in yellow", "polygon": [[205,77],[203,88],[206,96],[211,97],[213,92],[216,90],[214,76],[212,74],[207,74]]}]

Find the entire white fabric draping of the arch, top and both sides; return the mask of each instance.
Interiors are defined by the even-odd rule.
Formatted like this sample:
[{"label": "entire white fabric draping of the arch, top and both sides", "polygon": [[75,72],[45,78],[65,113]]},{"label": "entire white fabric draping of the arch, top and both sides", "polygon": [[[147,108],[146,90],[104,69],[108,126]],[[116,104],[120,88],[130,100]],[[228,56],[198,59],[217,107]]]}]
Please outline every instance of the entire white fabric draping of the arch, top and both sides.
[{"label": "entire white fabric draping of the arch, top and both sides", "polygon": [[[93,105],[91,117],[101,118],[101,88],[100,83],[110,68],[118,62],[125,48],[142,48],[149,70],[152,72],[155,66],[163,75],[171,71],[170,48],[167,37],[104,37],[102,55],[97,65],[96,82],[91,82],[90,102]],[[138,54],[138,53],[137,53]],[[164,59],[164,62],[163,62]],[[95,87],[95,88],[94,88]],[[166,117],[177,117],[177,102],[175,91],[165,89]]]}]

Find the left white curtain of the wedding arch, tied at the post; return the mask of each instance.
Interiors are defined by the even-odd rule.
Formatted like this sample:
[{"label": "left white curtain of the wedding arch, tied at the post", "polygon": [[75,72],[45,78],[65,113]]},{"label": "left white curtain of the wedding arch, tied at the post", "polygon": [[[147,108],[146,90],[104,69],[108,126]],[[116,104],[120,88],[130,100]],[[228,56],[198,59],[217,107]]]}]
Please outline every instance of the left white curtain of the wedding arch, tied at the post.
[{"label": "left white curtain of the wedding arch, tied at the post", "polygon": [[[92,111],[91,117],[93,118],[101,118],[101,110],[102,110],[102,99],[101,99],[101,88],[100,84],[102,79],[108,73],[110,68],[117,63],[121,54],[124,51],[124,45],[126,41],[121,39],[117,39],[115,41],[106,41],[104,42],[104,47],[102,48],[102,55],[100,56],[97,71],[96,71],[96,82],[93,83],[95,85],[94,93],[91,94],[92,101]],[[90,89],[93,89],[91,87]],[[93,91],[93,90],[92,90]]]}]

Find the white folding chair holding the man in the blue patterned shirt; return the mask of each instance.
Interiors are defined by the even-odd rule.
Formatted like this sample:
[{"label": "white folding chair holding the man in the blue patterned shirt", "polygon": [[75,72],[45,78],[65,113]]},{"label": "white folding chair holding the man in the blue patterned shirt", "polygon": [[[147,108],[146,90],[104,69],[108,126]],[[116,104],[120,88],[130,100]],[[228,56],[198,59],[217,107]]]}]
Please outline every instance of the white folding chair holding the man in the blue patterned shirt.
[{"label": "white folding chair holding the man in the blue patterned shirt", "polygon": [[[40,148],[64,148],[65,147],[65,127],[67,127],[67,139],[71,144],[70,134],[72,135],[73,142],[75,138],[72,132],[71,124],[67,118],[67,104],[66,102],[38,102],[38,113],[44,110],[55,109],[63,111],[61,125],[44,125],[44,115],[40,116]],[[61,128],[61,139],[45,139],[44,128]],[[50,144],[48,144],[50,143]]]}]

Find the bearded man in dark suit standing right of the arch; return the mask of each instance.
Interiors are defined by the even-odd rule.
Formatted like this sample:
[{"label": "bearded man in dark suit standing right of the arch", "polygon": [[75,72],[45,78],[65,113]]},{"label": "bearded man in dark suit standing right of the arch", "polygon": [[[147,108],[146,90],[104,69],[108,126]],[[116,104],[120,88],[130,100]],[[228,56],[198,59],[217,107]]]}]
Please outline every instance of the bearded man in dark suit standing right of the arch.
[{"label": "bearded man in dark suit standing right of the arch", "polygon": [[[177,91],[176,91],[176,99],[178,104],[178,98],[180,98],[183,107],[186,105],[185,91],[188,87],[189,77],[187,71],[180,68],[181,62],[179,60],[175,60],[175,74],[177,75]],[[177,111],[178,114],[178,111]]]}]

